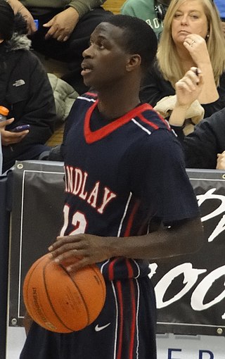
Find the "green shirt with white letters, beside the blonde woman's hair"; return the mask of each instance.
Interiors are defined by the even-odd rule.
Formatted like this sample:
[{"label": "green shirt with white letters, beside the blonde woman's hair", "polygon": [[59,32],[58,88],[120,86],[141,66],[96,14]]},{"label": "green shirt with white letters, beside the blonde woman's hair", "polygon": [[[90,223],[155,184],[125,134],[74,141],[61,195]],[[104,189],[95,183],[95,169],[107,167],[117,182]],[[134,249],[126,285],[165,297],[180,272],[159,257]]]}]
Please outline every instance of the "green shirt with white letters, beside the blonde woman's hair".
[{"label": "green shirt with white letters, beside the blonde woman's hair", "polygon": [[159,38],[163,25],[155,13],[153,0],[127,0],[124,2],[120,12],[146,21]]}]

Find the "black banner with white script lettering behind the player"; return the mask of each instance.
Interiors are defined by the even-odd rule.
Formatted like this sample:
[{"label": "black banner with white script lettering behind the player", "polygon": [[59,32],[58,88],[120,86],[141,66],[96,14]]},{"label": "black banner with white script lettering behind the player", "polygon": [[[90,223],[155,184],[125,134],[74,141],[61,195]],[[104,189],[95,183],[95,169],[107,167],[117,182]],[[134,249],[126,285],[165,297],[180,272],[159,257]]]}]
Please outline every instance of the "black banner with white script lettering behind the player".
[{"label": "black banner with white script lettering behind the player", "polygon": [[[13,170],[9,325],[23,325],[23,279],[46,253],[63,215],[63,163],[24,161]],[[198,199],[205,245],[191,256],[151,263],[158,332],[225,334],[225,175],[187,170]]]}]

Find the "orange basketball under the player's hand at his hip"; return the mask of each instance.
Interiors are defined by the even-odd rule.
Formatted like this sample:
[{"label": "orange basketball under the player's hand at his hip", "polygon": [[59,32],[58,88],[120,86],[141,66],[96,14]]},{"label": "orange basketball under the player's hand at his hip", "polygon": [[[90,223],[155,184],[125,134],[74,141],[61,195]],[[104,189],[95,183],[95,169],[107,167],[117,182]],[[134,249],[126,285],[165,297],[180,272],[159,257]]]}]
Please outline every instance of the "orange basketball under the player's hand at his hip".
[{"label": "orange basketball under the player's hand at his hip", "polygon": [[51,332],[70,333],[96,320],[105,303],[105,281],[96,265],[67,272],[46,254],[30,267],[23,284],[27,312]]}]

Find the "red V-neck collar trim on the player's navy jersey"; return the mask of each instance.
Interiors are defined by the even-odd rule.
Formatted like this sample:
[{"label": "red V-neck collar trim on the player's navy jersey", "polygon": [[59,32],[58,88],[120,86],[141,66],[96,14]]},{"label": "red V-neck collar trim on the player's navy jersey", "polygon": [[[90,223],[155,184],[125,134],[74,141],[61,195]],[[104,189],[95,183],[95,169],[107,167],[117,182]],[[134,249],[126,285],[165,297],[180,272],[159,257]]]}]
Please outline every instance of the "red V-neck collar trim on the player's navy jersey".
[{"label": "red V-neck collar trim on the player's navy jersey", "polygon": [[103,137],[108,136],[108,134],[117,130],[117,128],[123,126],[125,123],[129,122],[132,118],[134,118],[136,115],[139,115],[143,111],[153,109],[152,106],[150,106],[148,103],[143,103],[143,105],[133,108],[133,110],[126,113],[126,115],[117,118],[117,120],[108,123],[108,125],[105,125],[96,131],[91,131],[90,128],[91,115],[97,105],[98,105],[98,100],[96,100],[93,103],[93,105],[88,109],[88,111],[86,111],[86,115],[84,119],[84,137],[86,139],[86,143],[88,144],[92,144],[95,141],[99,141],[100,139],[103,139]]}]

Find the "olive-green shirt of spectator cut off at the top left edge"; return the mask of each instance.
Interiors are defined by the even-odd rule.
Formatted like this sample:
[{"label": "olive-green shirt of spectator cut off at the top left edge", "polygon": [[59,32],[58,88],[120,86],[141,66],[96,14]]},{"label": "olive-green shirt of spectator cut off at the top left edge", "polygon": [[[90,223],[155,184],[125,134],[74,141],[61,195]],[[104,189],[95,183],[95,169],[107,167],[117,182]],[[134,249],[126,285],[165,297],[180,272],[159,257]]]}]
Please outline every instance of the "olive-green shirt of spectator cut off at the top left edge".
[{"label": "olive-green shirt of spectator cut off at the top left edge", "polygon": [[91,11],[93,8],[101,6],[105,0],[21,0],[26,8],[67,8],[71,6],[79,13],[79,18]]}]

